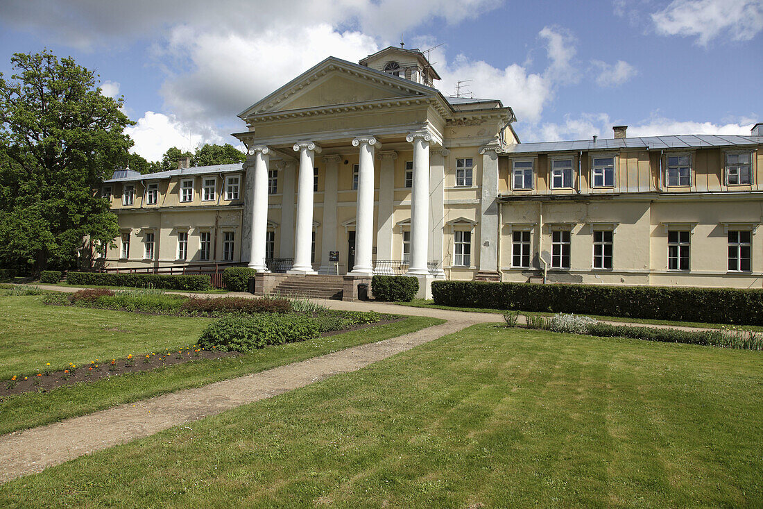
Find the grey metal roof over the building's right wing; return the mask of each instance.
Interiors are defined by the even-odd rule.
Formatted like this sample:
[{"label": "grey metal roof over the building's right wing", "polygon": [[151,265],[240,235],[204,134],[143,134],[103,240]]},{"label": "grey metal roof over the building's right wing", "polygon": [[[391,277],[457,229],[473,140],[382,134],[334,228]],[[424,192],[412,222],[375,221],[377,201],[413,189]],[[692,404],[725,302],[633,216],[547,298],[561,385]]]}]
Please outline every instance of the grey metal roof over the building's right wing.
[{"label": "grey metal roof over the building's right wing", "polygon": [[621,148],[670,150],[681,148],[736,147],[763,144],[763,136],[680,135],[640,138],[604,138],[581,141],[543,141],[507,145],[504,154],[535,152],[606,151]]}]

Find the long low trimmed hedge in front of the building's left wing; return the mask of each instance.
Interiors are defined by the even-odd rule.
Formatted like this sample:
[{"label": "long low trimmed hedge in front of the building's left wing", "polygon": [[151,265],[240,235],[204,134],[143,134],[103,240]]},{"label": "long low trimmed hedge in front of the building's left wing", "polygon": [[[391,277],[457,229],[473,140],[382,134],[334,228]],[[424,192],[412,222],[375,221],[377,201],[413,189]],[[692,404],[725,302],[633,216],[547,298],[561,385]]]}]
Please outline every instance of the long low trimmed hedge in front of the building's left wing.
[{"label": "long low trimmed hedge in front of the building's left wing", "polygon": [[103,287],[163,288],[165,290],[204,291],[212,287],[206,275],[112,274],[106,272],[68,272],[69,284],[93,284]]}]

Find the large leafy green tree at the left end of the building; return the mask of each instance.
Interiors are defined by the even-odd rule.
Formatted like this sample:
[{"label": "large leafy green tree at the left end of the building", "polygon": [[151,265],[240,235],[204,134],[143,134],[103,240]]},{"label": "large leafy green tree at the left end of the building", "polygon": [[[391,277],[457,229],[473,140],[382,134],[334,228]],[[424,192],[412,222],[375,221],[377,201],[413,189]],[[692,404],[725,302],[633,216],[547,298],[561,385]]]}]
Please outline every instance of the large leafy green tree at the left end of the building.
[{"label": "large leafy green tree at the left end of the building", "polygon": [[85,238],[113,242],[117,216],[94,189],[124,161],[133,122],[71,57],[15,53],[0,74],[0,263],[68,268]]}]

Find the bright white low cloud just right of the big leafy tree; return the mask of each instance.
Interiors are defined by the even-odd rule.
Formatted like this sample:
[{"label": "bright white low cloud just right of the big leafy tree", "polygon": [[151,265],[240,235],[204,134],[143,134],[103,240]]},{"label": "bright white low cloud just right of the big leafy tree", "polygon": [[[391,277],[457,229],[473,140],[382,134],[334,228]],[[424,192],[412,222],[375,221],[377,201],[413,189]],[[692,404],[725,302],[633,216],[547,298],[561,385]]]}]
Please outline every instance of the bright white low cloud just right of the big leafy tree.
[{"label": "bright white low cloud just right of the big leafy tree", "polygon": [[179,122],[175,115],[146,112],[136,125],[124,132],[135,141],[131,152],[146,160],[160,160],[170,147],[194,151],[204,143],[222,143],[223,138],[209,126]]}]

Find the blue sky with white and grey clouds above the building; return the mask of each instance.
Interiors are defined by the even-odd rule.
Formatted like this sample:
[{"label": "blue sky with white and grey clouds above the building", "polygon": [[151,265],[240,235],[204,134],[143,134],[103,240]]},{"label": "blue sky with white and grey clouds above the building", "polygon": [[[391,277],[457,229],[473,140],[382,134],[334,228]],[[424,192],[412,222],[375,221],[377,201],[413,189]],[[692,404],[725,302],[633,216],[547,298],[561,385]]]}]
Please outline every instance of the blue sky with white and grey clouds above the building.
[{"label": "blue sky with white and grey clouds above the building", "polygon": [[501,99],[520,141],[749,135],[763,122],[763,0],[2,0],[0,72],[50,49],[124,96],[132,149],[243,147],[237,114],[324,60],[401,39],[436,87]]}]

